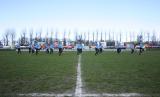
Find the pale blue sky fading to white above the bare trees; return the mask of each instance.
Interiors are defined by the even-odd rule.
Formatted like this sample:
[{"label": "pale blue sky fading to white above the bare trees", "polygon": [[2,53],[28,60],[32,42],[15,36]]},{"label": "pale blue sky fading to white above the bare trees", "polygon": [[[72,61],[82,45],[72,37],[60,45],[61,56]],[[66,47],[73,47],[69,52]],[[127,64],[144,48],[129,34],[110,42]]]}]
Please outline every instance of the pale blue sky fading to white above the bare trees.
[{"label": "pale blue sky fading to white above the bare trees", "polygon": [[[0,0],[0,40],[6,29],[34,32],[155,32],[160,38],[160,0]],[[29,35],[29,34],[28,34]],[[99,35],[100,36],[100,35]],[[129,40],[124,38],[125,40]]]}]

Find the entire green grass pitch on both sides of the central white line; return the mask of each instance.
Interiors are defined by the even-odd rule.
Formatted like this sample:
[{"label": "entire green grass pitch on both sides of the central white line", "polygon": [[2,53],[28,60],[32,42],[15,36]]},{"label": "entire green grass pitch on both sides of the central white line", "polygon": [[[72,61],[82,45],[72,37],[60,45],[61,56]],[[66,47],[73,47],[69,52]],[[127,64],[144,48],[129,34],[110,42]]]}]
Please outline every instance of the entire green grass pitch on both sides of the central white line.
[{"label": "entire green grass pitch on both sides of the central white line", "polygon": [[[81,71],[86,93],[160,94],[160,51],[83,52]],[[39,55],[0,51],[0,96],[17,93],[71,93],[76,87],[76,52]],[[9,96],[10,97],[10,96]]]}]

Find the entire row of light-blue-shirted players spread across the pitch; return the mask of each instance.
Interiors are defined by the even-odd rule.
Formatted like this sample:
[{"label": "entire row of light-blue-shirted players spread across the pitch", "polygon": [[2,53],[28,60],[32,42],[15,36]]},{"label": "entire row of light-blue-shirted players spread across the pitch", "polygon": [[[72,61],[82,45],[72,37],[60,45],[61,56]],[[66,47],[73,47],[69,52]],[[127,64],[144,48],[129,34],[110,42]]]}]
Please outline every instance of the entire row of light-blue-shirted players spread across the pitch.
[{"label": "entire row of light-blue-shirted players spread across the pitch", "polygon": [[[141,55],[142,51],[144,51],[142,43],[139,43],[139,46],[140,46],[139,47],[140,48],[139,55]],[[103,46],[102,46],[101,43],[95,42],[95,55],[101,54],[102,50],[103,50],[102,48],[103,48]],[[133,54],[134,53],[134,49],[135,49],[135,45],[131,44],[130,48],[131,48],[131,54]],[[17,45],[17,49],[18,49],[17,53],[21,54],[20,45]],[[32,52],[32,54],[33,54],[34,52],[36,52],[36,55],[37,55],[40,49],[41,49],[41,47],[40,47],[40,45],[38,43],[36,43],[35,45],[30,45],[29,46],[29,53]],[[54,45],[53,44],[51,44],[51,45],[47,45],[46,44],[46,53],[47,54],[49,54],[49,53],[52,54],[53,53],[53,49],[54,49]],[[60,56],[62,54],[62,52],[63,52],[62,43],[58,44],[58,49],[59,49],[59,56]],[[83,49],[82,43],[78,43],[77,44],[77,55],[82,53],[82,49]],[[122,49],[121,46],[117,47],[117,53],[118,54],[121,52],[121,49]]]}]

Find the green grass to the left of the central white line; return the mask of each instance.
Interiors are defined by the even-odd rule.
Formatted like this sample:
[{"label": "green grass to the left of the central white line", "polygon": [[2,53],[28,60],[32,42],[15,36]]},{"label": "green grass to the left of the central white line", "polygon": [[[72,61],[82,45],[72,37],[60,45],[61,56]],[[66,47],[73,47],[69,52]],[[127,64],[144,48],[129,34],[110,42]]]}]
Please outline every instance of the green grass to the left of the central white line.
[{"label": "green grass to the left of the central white line", "polygon": [[74,52],[58,56],[29,55],[0,51],[0,95],[17,93],[73,92],[76,84],[77,57]]}]

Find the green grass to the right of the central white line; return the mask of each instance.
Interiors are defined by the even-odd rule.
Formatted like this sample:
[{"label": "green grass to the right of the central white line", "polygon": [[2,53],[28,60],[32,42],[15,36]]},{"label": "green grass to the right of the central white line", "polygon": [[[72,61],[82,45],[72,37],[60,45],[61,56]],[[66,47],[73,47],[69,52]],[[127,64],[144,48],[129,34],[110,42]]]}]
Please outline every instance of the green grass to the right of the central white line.
[{"label": "green grass to the right of the central white line", "polygon": [[160,93],[160,51],[94,52],[82,55],[85,89],[95,93]]}]

